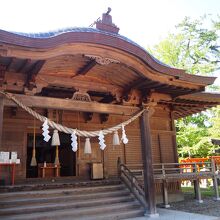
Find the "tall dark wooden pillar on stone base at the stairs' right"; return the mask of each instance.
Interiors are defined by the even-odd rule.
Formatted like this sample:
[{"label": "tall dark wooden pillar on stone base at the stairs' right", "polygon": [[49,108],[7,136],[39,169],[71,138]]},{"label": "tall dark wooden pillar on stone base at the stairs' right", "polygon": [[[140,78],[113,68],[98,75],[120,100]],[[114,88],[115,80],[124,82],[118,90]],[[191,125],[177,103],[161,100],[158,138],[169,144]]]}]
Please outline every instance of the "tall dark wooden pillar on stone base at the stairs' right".
[{"label": "tall dark wooden pillar on stone base at the stairs' right", "polygon": [[155,217],[156,215],[158,216],[158,214],[156,211],[156,192],[152,165],[152,144],[149,117],[149,111],[145,111],[140,118],[142,156],[144,165],[144,189],[145,198],[148,204],[148,210],[146,211],[145,215]]}]

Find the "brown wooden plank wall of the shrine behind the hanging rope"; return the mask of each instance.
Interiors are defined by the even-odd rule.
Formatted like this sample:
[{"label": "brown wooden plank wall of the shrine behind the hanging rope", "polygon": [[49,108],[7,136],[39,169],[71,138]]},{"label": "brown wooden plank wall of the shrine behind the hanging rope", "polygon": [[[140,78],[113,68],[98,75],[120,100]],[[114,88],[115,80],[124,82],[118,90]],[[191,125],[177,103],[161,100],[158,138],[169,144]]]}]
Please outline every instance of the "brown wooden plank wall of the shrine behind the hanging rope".
[{"label": "brown wooden plank wall of the shrine behind the hanging rope", "polygon": [[[37,110],[43,114],[45,111]],[[63,125],[81,130],[100,130],[114,126],[128,119],[125,116],[110,115],[107,122],[101,123],[100,115],[93,114],[91,121],[85,121],[84,113],[64,111],[60,112],[59,120]],[[172,121],[170,111],[164,106],[156,108],[151,118],[153,162],[175,162],[174,131],[172,131]],[[48,111],[48,117],[55,120],[54,111]],[[37,132],[41,133],[41,123],[37,122]],[[141,137],[139,120],[132,122],[125,127],[129,142],[127,145],[121,143],[120,146],[112,146],[112,135],[107,135],[105,141],[107,147],[104,151],[99,149],[98,138],[92,138],[92,155],[84,154],[84,138],[79,138],[79,150],[77,152],[77,176],[89,178],[89,164],[91,162],[103,162],[104,176],[117,176],[117,159],[121,157],[126,164],[142,164]],[[1,151],[17,151],[21,158],[21,164],[17,166],[16,180],[26,179],[26,151],[27,133],[33,132],[33,118],[26,112],[18,108],[16,114],[11,108],[4,108],[3,121],[3,149]],[[119,132],[121,136],[121,131]],[[62,143],[61,143],[62,144]],[[160,185],[157,187],[160,192]],[[178,184],[169,185],[171,190],[177,190]]]}]

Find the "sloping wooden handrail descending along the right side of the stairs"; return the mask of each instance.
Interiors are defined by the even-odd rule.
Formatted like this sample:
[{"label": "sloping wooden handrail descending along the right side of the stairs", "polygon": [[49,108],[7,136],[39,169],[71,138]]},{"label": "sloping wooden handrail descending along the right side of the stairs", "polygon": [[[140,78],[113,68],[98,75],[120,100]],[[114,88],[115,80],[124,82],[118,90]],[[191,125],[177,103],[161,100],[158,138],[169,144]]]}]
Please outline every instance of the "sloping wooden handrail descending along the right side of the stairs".
[{"label": "sloping wooden handrail descending along the right side of the stairs", "polygon": [[138,183],[137,178],[133,175],[130,169],[122,164],[120,158],[118,158],[118,175],[133,195],[139,200],[141,205],[146,209],[147,202],[145,200],[145,192],[142,186]]}]

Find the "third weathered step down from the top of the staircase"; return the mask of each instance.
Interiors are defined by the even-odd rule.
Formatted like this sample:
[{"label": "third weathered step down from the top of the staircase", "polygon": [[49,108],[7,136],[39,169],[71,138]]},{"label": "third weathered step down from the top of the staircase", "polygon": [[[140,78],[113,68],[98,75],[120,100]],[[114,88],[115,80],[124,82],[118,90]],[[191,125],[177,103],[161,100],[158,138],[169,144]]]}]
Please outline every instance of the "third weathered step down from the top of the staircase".
[{"label": "third weathered step down from the top of the staircase", "polygon": [[110,205],[122,202],[132,202],[135,201],[133,196],[118,196],[110,198],[96,198],[90,200],[81,200],[81,201],[70,201],[70,202],[53,202],[48,204],[23,204],[16,207],[0,209],[0,216],[3,215],[12,215],[12,214],[23,214],[23,213],[34,213],[34,212],[46,212],[48,210],[64,210],[64,209],[76,209],[83,207],[94,207],[100,205]]}]

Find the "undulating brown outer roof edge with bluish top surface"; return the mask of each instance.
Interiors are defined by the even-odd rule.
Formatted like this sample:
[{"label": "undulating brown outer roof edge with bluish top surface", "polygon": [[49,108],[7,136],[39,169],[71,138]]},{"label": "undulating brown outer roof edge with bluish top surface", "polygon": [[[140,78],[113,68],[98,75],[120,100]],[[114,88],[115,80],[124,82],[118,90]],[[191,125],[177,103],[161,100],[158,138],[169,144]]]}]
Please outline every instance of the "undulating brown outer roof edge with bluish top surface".
[{"label": "undulating brown outer roof edge with bluish top surface", "polygon": [[67,43],[102,44],[135,55],[152,69],[176,79],[201,85],[210,85],[215,77],[187,74],[184,70],[170,67],[150,55],[144,48],[132,40],[95,28],[67,28],[47,33],[15,33],[0,30],[0,44],[10,44],[27,48],[49,49]]}]

